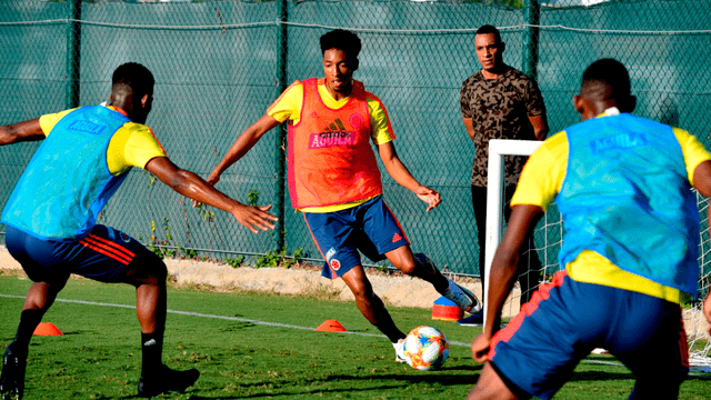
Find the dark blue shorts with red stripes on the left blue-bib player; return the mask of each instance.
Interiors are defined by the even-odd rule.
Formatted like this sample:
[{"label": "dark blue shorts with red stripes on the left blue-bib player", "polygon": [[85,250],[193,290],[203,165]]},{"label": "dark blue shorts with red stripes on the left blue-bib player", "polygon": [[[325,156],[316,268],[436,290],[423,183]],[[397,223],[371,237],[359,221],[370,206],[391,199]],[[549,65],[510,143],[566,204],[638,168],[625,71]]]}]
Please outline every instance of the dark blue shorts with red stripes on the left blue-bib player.
[{"label": "dark blue shorts with red stripes on the left blue-bib player", "polygon": [[161,262],[136,239],[100,224],[76,241],[38,239],[8,227],[6,246],[32,281],[60,288],[71,273],[112,283],[120,282],[127,268],[134,262]]}]

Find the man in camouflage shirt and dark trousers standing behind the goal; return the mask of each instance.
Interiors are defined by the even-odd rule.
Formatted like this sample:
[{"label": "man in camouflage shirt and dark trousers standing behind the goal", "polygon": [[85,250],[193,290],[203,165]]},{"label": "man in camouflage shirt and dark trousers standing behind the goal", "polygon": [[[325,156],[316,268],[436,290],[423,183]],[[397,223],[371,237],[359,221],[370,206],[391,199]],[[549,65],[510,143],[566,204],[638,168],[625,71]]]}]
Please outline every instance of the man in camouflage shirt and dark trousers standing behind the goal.
[{"label": "man in camouflage shirt and dark trousers standing behind the goal", "polygon": [[[492,26],[483,26],[474,37],[477,58],[482,69],[469,77],[461,88],[461,113],[469,137],[475,150],[471,174],[471,194],[474,207],[474,219],[479,230],[479,270],[484,284],[484,243],[487,221],[487,173],[489,163],[490,139],[543,140],[548,133],[545,104],[538,84],[521,71],[503,63],[505,43],[501,41],[499,30]],[[525,158],[505,157],[505,202],[515,190],[518,176]],[[504,208],[508,220],[511,210]],[[532,240],[528,240],[529,244]],[[528,246],[522,248],[524,254]],[[533,253],[535,254],[535,253]],[[521,304],[530,299],[539,279],[540,261],[538,257],[521,257],[519,262],[519,282],[521,283]],[[527,273],[528,272],[528,273]],[[482,309],[483,312],[483,309]],[[468,319],[471,323],[481,323],[483,313]]]}]

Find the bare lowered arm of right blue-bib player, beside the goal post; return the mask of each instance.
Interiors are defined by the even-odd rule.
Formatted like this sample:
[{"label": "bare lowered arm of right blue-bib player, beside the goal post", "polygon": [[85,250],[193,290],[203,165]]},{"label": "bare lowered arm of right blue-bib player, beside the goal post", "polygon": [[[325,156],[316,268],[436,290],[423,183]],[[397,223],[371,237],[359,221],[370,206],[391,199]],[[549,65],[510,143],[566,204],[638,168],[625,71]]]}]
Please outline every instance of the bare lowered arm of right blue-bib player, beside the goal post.
[{"label": "bare lowered arm of right blue-bib player, beside the goal post", "polygon": [[511,211],[507,231],[497,248],[489,274],[489,292],[487,296],[487,323],[483,332],[471,343],[471,356],[477,362],[487,361],[491,338],[501,326],[503,302],[513,289],[518,278],[519,251],[528,231],[543,210],[538,206],[515,206]]}]

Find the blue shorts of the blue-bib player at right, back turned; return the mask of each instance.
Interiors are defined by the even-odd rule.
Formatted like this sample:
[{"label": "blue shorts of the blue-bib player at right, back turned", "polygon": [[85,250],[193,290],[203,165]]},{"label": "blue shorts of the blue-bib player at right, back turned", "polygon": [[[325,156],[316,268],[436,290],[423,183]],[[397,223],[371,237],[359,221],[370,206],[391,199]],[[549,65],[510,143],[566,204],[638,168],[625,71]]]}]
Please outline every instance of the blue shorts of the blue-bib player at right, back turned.
[{"label": "blue shorts of the blue-bib player at right, back turned", "polygon": [[655,398],[675,398],[689,371],[679,304],[577,282],[565,271],[542,284],[494,334],[489,361],[519,398],[550,399],[595,348],[632,371],[637,392]]}]

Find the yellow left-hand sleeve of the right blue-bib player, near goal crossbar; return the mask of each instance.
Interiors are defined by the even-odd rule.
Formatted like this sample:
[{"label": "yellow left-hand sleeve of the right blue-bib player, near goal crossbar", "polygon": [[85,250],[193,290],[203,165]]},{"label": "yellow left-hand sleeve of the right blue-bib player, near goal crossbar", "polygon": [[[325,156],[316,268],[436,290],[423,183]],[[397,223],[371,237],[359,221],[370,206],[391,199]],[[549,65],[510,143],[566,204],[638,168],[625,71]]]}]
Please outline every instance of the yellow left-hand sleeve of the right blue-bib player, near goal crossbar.
[{"label": "yellow left-hand sleeve of the right blue-bib player, near goal crossbar", "polygon": [[529,204],[548,210],[563,186],[567,169],[568,137],[563,131],[547,139],[529,157],[511,199],[511,207]]}]

